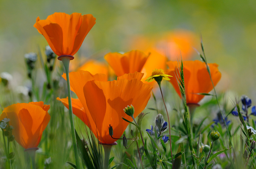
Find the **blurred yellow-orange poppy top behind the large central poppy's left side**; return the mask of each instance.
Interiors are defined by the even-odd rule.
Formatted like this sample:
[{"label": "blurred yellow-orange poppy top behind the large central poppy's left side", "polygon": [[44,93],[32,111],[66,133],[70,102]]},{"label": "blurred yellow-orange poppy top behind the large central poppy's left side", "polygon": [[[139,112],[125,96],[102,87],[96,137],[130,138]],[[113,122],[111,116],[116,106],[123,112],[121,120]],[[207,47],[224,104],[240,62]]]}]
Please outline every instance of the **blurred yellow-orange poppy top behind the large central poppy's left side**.
[{"label": "blurred yellow-orange poppy top behind the large central poppy's left side", "polygon": [[88,71],[91,74],[108,74],[108,67],[105,63],[99,62],[97,60],[88,60],[81,67],[77,69]]}]

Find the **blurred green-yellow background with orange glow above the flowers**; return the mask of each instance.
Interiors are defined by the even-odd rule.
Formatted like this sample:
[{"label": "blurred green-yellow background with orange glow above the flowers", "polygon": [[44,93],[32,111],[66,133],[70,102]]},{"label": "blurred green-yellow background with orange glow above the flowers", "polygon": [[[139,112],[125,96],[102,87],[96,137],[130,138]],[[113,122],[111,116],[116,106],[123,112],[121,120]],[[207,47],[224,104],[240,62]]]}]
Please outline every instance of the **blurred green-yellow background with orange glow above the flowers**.
[{"label": "blurred green-yellow background with orange glow above the flowers", "polygon": [[19,77],[18,83],[27,78],[24,54],[47,45],[33,27],[38,16],[91,13],[96,25],[77,57],[103,61],[108,52],[165,45],[162,51],[171,60],[177,60],[179,51],[184,60],[196,60],[192,46],[201,52],[202,35],[208,62],[219,64],[222,73],[218,90],[255,100],[255,6],[254,0],[0,0],[0,72]]}]

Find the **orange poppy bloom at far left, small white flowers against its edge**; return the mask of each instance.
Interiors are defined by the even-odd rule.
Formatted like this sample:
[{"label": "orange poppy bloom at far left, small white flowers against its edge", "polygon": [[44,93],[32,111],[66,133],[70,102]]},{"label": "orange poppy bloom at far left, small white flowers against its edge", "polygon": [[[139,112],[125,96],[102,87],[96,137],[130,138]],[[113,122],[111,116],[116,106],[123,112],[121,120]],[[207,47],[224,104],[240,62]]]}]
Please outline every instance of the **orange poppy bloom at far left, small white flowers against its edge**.
[{"label": "orange poppy bloom at far left, small white flowers against its edge", "polygon": [[9,118],[15,140],[25,149],[35,148],[50,121],[50,105],[44,102],[17,103],[4,108],[0,121]]}]

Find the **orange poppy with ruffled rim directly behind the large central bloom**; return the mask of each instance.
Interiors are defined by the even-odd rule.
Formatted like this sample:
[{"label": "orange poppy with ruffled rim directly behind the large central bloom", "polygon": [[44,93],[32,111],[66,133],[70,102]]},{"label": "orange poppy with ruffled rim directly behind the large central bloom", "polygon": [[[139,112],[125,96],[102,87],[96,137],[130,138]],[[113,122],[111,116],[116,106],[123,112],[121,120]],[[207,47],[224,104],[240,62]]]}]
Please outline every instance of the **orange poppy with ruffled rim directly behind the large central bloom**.
[{"label": "orange poppy with ruffled rim directly behind the large central bloom", "polygon": [[104,58],[113,68],[115,74],[122,76],[128,73],[140,72],[148,59],[148,55],[141,51],[133,50],[124,54],[108,53]]}]

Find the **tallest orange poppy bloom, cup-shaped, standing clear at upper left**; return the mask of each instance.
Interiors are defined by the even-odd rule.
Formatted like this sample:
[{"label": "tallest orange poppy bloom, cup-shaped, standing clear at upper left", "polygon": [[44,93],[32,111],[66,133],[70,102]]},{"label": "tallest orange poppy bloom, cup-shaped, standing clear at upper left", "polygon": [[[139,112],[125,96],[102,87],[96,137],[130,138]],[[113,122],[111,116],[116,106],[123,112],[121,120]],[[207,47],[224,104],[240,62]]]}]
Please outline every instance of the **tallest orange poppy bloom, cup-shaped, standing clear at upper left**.
[{"label": "tallest orange poppy bloom, cup-shaped, standing clear at upper left", "polygon": [[85,36],[92,29],[95,20],[91,14],[72,13],[68,15],[55,12],[45,20],[40,20],[37,17],[34,27],[44,35],[49,46],[58,56],[73,56],[82,45]]}]

